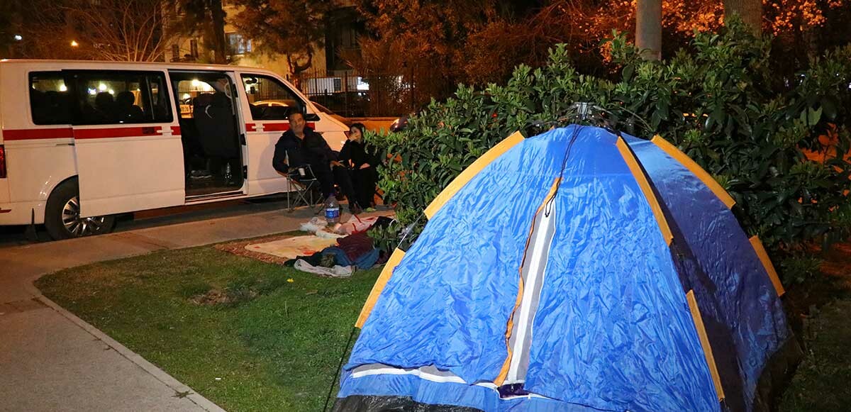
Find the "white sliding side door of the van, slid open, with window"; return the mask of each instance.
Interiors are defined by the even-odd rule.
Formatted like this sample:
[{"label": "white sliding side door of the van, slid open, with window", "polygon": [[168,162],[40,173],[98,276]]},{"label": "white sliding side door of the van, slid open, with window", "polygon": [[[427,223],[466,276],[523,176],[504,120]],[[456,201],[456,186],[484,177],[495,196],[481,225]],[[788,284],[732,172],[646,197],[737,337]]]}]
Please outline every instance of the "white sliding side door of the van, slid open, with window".
[{"label": "white sliding side door of the van, slid open, with window", "polygon": [[73,91],[80,215],[183,204],[183,147],[165,72],[63,73]]}]

